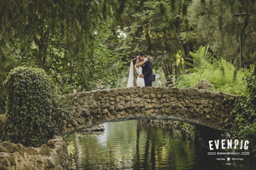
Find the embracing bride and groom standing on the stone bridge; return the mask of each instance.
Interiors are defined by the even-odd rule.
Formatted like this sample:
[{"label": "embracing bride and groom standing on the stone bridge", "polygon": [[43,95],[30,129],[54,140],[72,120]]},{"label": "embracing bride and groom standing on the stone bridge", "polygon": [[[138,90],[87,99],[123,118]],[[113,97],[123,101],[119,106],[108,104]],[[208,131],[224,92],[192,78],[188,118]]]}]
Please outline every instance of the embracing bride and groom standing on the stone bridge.
[{"label": "embracing bride and groom standing on the stone bridge", "polygon": [[135,72],[135,75],[137,77],[137,86],[152,87],[152,82],[155,81],[155,75],[153,74],[152,63],[149,60],[150,58],[150,55],[145,57],[145,54],[143,52],[131,57],[131,65],[127,87],[133,86],[133,71]]}]

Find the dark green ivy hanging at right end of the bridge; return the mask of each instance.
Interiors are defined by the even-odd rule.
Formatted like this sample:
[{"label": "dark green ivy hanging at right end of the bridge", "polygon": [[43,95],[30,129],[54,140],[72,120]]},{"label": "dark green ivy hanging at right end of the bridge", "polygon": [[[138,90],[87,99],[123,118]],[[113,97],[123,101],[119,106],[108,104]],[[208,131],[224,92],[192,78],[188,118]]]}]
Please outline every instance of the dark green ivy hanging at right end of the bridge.
[{"label": "dark green ivy hanging at right end of the bridge", "polygon": [[230,114],[235,117],[232,131],[243,140],[249,140],[248,152],[256,156],[256,77],[254,75],[255,65],[245,72],[245,95],[236,101],[236,107]]}]

